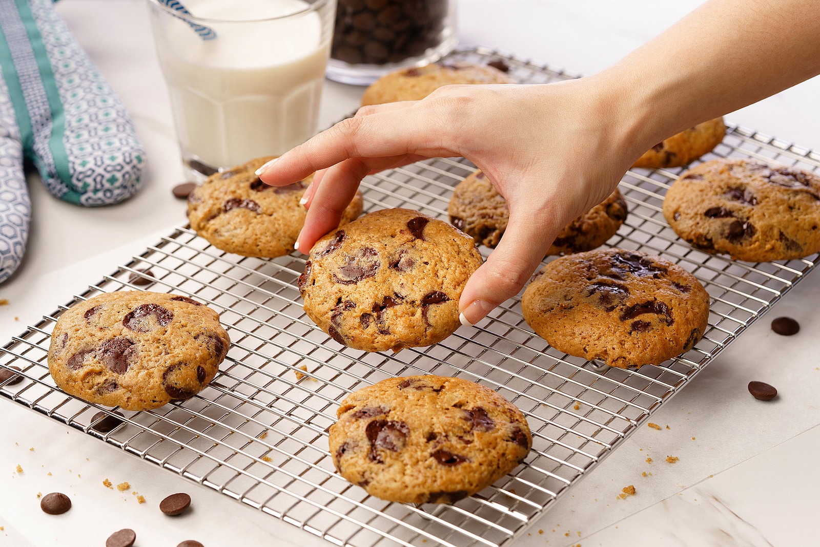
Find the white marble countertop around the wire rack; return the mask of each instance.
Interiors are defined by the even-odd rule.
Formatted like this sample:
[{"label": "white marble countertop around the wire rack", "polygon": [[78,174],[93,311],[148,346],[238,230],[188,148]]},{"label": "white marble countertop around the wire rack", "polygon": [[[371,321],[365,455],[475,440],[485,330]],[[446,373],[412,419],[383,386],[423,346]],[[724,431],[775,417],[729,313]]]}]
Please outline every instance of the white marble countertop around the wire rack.
[{"label": "white marble countertop around the wire rack", "polygon": [[[459,35],[462,44],[593,74],[699,3],[460,0]],[[136,197],[99,209],[58,201],[30,174],[29,248],[19,273],[0,285],[9,301],[0,307],[2,341],[185,219],[184,203],[171,196],[183,172],[146,2],[62,0],[57,9],[134,116],[148,174]],[[353,111],[362,90],[326,82],[320,125]],[[817,97],[820,80],[813,79],[726,119],[820,150]],[[820,451],[818,308],[820,277],[810,273],[653,415],[659,431],[635,432],[512,545],[812,545],[820,490],[812,465]],[[799,334],[771,331],[781,315],[799,321]],[[750,380],[771,383],[779,396],[754,400]],[[137,532],[138,547],[185,539],[207,547],[330,545],[19,405],[3,400],[0,407],[0,545],[104,545],[124,527]],[[667,455],[679,460],[665,463]],[[103,479],[131,488],[109,490]],[[636,493],[621,500],[627,485]],[[132,490],[147,503],[138,504]],[[74,508],[42,513],[37,494],[52,491],[70,495]],[[177,491],[191,493],[193,510],[166,518],[157,504]]]}]

